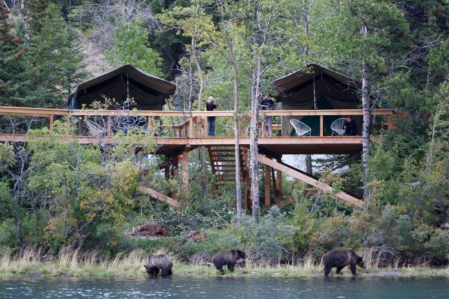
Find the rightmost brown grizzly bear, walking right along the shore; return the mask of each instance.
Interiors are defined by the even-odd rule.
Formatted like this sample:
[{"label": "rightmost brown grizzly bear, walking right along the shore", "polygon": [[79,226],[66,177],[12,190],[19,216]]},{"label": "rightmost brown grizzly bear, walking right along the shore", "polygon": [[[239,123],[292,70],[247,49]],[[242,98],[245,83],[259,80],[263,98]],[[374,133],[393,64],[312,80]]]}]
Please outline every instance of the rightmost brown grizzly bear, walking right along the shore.
[{"label": "rightmost brown grizzly bear, walking right along the shore", "polygon": [[324,256],[322,256],[322,263],[325,264],[325,276],[329,276],[329,272],[331,272],[332,267],[337,267],[337,274],[343,269],[344,266],[349,265],[351,267],[351,272],[353,275],[357,275],[355,273],[355,266],[365,268],[365,263],[363,259],[355,254],[353,250],[347,251],[338,251],[331,250],[327,252]]}]

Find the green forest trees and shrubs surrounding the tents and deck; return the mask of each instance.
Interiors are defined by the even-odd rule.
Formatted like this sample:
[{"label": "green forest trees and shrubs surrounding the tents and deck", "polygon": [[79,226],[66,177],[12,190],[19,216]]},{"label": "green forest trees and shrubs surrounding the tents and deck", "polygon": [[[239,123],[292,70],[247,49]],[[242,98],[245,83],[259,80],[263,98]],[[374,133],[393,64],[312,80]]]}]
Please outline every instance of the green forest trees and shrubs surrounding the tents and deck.
[{"label": "green forest trees and shrubs surrounding the tents and deck", "polygon": [[[4,0],[0,35],[0,106],[67,107],[74,87],[89,78],[85,36],[111,65],[130,63],[175,82],[188,109],[203,109],[201,97],[214,96],[220,109],[232,110],[237,95],[238,109],[248,111],[258,92],[272,91],[272,80],[316,63],[356,80],[369,67],[369,98],[404,112],[382,142],[371,142],[367,173],[358,155],[315,161],[316,175],[338,188],[360,194],[368,179],[365,208],[285,181],[294,204],[262,206],[260,221],[244,215],[241,225],[234,223],[235,189],[212,198],[196,179],[214,181],[201,173],[199,154],[190,159],[187,196],[177,177],[167,181],[156,170],[158,157],[142,154],[155,143],[141,132],[119,132],[126,144],[83,146],[59,138],[75,134],[74,119],[56,122],[52,132],[14,120],[17,130],[35,129],[27,144],[0,144],[0,245],[111,254],[163,248],[185,259],[242,247],[270,264],[352,248],[375,251],[386,263],[448,262],[449,234],[440,229],[449,223],[447,0]],[[0,129],[8,122],[0,116]],[[142,141],[149,147],[135,151]],[[142,182],[182,195],[182,210],[142,194]],[[149,220],[173,236],[123,234]],[[190,230],[211,237],[185,242]]]}]

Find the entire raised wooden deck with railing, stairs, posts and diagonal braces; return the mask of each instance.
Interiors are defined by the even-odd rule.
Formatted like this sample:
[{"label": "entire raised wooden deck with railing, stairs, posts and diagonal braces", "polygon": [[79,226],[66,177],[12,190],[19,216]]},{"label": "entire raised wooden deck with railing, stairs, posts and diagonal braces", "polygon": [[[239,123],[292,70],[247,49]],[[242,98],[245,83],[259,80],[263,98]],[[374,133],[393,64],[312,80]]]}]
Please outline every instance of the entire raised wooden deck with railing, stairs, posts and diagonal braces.
[{"label": "entire raised wooden deck with railing, stairs, posts and diagonal braces", "polygon": [[[276,180],[276,177],[281,176],[282,173],[305,181],[311,186],[325,190],[326,192],[333,192],[332,187],[318,181],[318,178],[311,177],[302,171],[287,166],[281,162],[283,155],[300,155],[300,154],[357,154],[362,152],[362,136],[330,136],[325,135],[325,117],[327,115],[334,115],[342,117],[343,115],[362,115],[362,110],[281,110],[281,111],[264,111],[266,115],[277,117],[283,116],[308,116],[314,115],[319,118],[320,128],[316,136],[283,136],[283,128],[281,124],[274,125],[273,137],[259,136],[259,162],[265,164],[265,206],[270,206],[270,178],[276,181],[273,184],[274,197],[276,197],[277,204],[291,203],[289,199],[283,199],[281,190],[281,180]],[[382,123],[377,123],[377,126],[382,129],[389,130],[393,126],[393,114],[391,109],[373,110],[372,115],[380,116]],[[243,151],[241,151],[242,177],[243,180],[249,184],[248,176],[248,150],[250,148],[249,122],[248,118],[250,112],[238,115],[239,118],[239,144]],[[215,137],[208,137],[204,135],[207,132],[207,116],[216,116],[217,122],[219,118],[227,118],[227,120],[220,120],[222,127],[220,132],[216,132]],[[74,117],[78,120],[78,135],[75,138],[80,144],[111,144],[113,142],[120,142],[113,138],[114,132],[117,131],[114,124],[119,118],[144,120],[146,126],[146,134],[155,135],[157,142],[157,150],[155,154],[165,155],[166,161],[172,161],[177,167],[177,156],[183,156],[182,165],[182,184],[184,190],[188,192],[188,159],[189,152],[200,146],[206,146],[210,154],[211,171],[217,178],[222,180],[222,183],[230,181],[235,178],[235,157],[232,157],[232,148],[235,146],[234,128],[232,128],[234,111],[107,111],[107,110],[72,110],[66,109],[38,109],[38,108],[17,108],[17,107],[0,107],[0,142],[27,142],[26,132],[17,133],[17,124],[21,122],[28,124],[34,122],[41,127],[47,127],[49,131],[54,129],[54,122],[56,120],[66,121],[67,117]],[[17,118],[17,119],[16,119]],[[87,127],[83,124],[90,119],[102,122],[100,133],[95,134],[92,131],[86,131]],[[9,124],[8,125],[8,120]],[[217,123],[216,122],[216,123]],[[162,124],[162,125],[161,125]],[[15,125],[15,126],[14,126]],[[360,124],[361,125],[361,124]],[[157,128],[156,128],[157,126]],[[259,132],[261,131],[261,123],[259,122]],[[19,126],[17,126],[19,128]],[[26,126],[21,126],[26,127]],[[329,128],[327,128],[329,129]],[[16,132],[16,133],[13,133]],[[226,132],[226,133],[222,133]],[[327,130],[329,132],[329,130]],[[380,131],[382,132],[382,131]],[[156,134],[157,133],[157,134]],[[73,138],[74,136],[70,136]],[[375,137],[375,135],[373,135]],[[68,138],[68,136],[67,136]],[[226,151],[226,154],[223,154]],[[232,161],[234,161],[232,163]],[[167,163],[168,165],[168,163]],[[169,177],[168,167],[166,167],[166,176]],[[276,169],[276,176],[272,175],[272,169]],[[172,206],[177,206],[178,201],[162,195],[156,190],[142,187],[142,190],[151,197],[162,200]],[[363,206],[363,201],[360,198],[351,195],[349,192],[338,192],[336,197],[343,199],[355,206]],[[248,199],[248,190],[245,190],[245,199],[243,201],[244,207],[250,207]]]}]

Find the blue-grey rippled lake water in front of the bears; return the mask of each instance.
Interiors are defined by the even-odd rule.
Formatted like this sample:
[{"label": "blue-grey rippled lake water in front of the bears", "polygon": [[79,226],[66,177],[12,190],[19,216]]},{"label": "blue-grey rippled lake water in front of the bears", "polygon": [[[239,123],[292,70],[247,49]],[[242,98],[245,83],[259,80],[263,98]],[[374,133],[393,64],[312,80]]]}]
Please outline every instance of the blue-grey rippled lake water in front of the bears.
[{"label": "blue-grey rippled lake water in front of the bears", "polygon": [[0,278],[0,298],[449,298],[449,278]]}]

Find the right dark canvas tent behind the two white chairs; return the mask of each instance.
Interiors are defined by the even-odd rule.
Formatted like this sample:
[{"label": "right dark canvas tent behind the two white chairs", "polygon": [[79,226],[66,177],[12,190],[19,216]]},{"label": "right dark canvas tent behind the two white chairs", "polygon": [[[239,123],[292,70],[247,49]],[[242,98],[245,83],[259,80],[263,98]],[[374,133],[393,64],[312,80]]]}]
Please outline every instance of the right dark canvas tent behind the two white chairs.
[{"label": "right dark canvas tent behind the two white chairs", "polygon": [[[308,65],[304,70],[295,71],[272,83],[277,93],[276,101],[282,102],[284,110],[361,109],[362,84],[319,65]],[[325,135],[331,135],[331,123],[341,117],[325,116]],[[294,134],[290,118],[282,118],[283,135]],[[311,127],[311,135],[319,135],[319,116],[295,118]],[[362,116],[353,116],[353,120],[357,122],[361,134]]]}]

